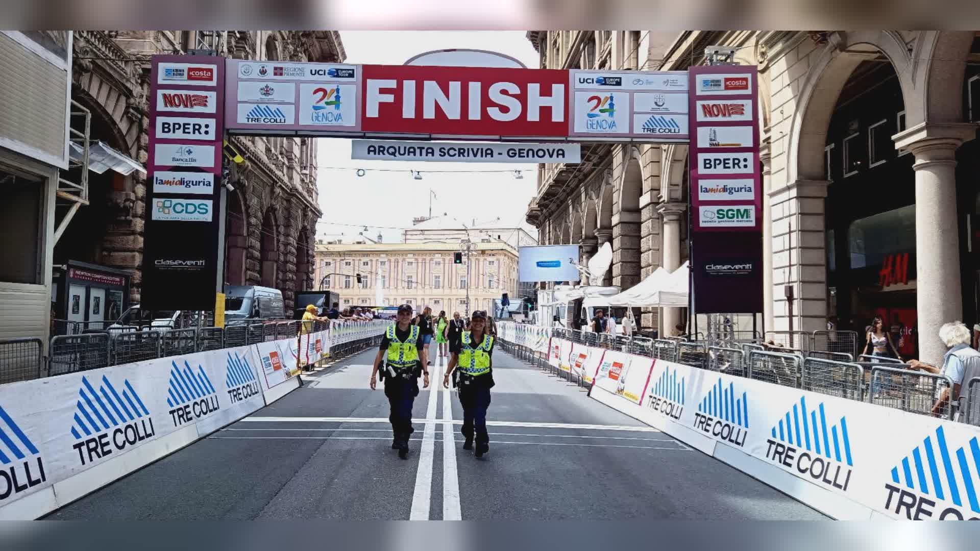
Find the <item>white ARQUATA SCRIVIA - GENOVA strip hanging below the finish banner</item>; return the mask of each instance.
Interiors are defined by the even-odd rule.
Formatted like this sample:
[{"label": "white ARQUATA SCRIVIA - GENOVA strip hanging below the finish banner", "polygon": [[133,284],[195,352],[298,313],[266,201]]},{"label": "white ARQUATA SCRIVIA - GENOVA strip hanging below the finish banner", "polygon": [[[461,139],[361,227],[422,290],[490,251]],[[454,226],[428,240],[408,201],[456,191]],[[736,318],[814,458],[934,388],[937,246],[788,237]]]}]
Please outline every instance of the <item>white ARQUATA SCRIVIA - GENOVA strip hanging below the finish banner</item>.
[{"label": "white ARQUATA SCRIVIA - GENOVA strip hanging below the finish banner", "polygon": [[351,159],[452,163],[578,163],[581,148],[569,143],[473,143],[356,139]]}]

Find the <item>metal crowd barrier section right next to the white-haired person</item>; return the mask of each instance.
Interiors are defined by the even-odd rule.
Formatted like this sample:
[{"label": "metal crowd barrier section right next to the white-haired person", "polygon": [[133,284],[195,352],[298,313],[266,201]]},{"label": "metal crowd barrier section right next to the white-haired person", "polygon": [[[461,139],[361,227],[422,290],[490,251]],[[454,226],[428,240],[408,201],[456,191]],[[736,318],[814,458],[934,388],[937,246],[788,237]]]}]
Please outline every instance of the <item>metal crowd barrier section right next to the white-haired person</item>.
[{"label": "metal crowd barrier section right next to the white-haired person", "polygon": [[950,392],[951,398],[943,404],[939,415],[952,420],[956,401],[952,396],[953,379],[879,365],[871,368],[867,401],[906,412],[933,415],[933,405],[945,391]]}]

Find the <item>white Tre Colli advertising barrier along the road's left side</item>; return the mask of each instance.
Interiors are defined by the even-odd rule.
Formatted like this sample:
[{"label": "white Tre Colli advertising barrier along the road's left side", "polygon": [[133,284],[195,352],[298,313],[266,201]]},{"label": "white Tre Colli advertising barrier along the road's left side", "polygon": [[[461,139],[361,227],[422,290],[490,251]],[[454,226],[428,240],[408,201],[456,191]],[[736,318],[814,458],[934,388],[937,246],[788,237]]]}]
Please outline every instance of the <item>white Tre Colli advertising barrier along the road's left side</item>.
[{"label": "white Tre Colli advertising barrier along the road's left side", "polygon": [[0,386],[0,519],[29,520],[265,406],[253,347]]}]

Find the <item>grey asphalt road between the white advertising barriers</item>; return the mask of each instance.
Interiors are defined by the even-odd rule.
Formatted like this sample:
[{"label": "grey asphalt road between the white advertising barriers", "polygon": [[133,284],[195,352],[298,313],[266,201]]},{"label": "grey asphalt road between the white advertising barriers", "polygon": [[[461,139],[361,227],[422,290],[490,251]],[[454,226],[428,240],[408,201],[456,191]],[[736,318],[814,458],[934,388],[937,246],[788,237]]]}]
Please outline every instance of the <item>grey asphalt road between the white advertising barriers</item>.
[{"label": "grey asphalt road between the white advertising barriers", "polygon": [[[499,350],[489,454],[462,449],[459,399],[440,388],[416,398],[412,451],[400,460],[387,400],[368,388],[373,355],[304,376],[270,407],[48,518],[823,518]],[[445,368],[430,369],[441,383]]]}]

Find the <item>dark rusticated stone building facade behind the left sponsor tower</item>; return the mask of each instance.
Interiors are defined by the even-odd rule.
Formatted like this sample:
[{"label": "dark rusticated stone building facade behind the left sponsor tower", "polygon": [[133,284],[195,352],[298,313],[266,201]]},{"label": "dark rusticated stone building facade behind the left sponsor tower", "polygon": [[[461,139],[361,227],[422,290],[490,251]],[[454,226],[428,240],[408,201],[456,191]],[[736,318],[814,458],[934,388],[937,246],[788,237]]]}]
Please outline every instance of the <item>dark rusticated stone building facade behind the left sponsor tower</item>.
[{"label": "dark rusticated stone building facade behind the left sponsor tower", "polygon": [[[82,30],[74,34],[72,98],[92,113],[90,136],[147,161],[149,56],[211,50],[219,56],[282,62],[342,62],[336,31]],[[313,284],[313,246],[320,211],[317,149],[312,138],[233,137],[244,157],[231,164],[226,208],[225,282],[282,290]],[[141,290],[145,175],[91,175],[90,202],[55,250],[55,263],[78,260],[132,275],[129,300]],[[288,311],[288,310],[287,310]]]}]

